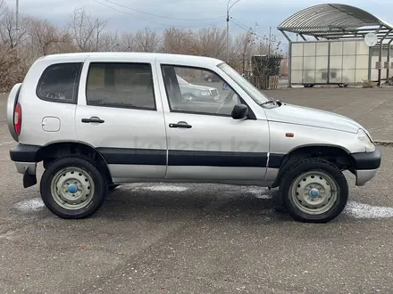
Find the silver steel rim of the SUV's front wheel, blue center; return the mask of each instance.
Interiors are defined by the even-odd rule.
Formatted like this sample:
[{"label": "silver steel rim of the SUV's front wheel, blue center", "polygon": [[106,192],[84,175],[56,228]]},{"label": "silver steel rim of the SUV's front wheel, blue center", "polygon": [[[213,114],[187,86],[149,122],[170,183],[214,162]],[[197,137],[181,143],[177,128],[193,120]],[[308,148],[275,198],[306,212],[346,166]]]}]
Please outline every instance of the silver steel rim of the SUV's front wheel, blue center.
[{"label": "silver steel rim of the SUV's front wheel, blue center", "polygon": [[295,206],[310,215],[321,215],[330,210],[339,195],[336,181],[322,171],[304,173],[293,181],[291,198]]}]

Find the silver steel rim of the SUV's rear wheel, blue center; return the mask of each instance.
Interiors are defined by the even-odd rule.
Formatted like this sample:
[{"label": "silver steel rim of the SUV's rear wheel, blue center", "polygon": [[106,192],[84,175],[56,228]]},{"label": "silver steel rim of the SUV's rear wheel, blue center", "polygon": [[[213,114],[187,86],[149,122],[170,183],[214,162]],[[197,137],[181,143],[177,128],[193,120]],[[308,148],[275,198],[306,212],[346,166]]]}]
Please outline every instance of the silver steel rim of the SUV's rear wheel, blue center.
[{"label": "silver steel rim of the SUV's rear wheel, blue center", "polygon": [[86,208],[93,200],[94,192],[93,178],[79,167],[62,168],[51,181],[54,201],[67,210]]}]

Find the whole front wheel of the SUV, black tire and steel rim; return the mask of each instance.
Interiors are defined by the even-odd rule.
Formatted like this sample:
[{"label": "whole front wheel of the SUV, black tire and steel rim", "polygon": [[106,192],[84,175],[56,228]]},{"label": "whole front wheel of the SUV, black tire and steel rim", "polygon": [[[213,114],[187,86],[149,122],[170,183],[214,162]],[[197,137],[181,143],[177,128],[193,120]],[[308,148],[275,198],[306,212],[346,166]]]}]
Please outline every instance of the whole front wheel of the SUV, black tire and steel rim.
[{"label": "whole front wheel of the SUV, black tire and steel rim", "polygon": [[326,223],[347,205],[347,179],[329,161],[303,159],[283,176],[280,196],[289,214],[298,221]]}]

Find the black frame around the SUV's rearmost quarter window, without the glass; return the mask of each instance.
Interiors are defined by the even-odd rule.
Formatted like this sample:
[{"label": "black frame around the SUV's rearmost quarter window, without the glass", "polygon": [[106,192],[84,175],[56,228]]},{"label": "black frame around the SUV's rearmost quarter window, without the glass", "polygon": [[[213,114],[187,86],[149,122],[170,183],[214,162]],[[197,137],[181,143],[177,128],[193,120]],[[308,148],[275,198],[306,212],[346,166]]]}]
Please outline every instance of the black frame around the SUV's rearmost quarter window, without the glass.
[{"label": "black frame around the SUV's rearmost quarter window, without the glass", "polygon": [[[46,78],[46,73],[48,72],[48,70],[54,68],[54,67],[58,67],[60,65],[78,65],[79,69],[78,69],[78,74],[76,77],[76,81],[75,81],[75,86],[74,86],[74,90],[73,90],[73,97],[71,100],[68,99],[56,99],[56,98],[47,98],[41,94],[39,94],[39,88],[41,85],[41,82],[44,78]],[[38,78],[38,83],[36,86],[36,95],[40,100],[46,101],[46,102],[58,102],[58,103],[65,103],[65,104],[78,104],[78,96],[79,96],[79,85],[80,85],[80,77],[81,77],[81,73],[82,73],[82,69],[83,69],[83,62],[77,61],[77,62],[56,62],[56,63],[51,63],[49,64],[43,71],[41,76]]]}]

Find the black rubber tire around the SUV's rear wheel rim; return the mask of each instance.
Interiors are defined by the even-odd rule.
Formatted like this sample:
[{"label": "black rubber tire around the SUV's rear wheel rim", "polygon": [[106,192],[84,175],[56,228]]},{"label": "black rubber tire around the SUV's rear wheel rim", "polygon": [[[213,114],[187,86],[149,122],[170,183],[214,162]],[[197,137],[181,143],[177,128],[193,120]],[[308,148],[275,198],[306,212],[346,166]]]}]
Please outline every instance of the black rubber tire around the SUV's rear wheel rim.
[{"label": "black rubber tire around the SUV's rear wheel rim", "polygon": [[[94,193],[88,206],[75,210],[61,207],[55,200],[51,192],[51,182],[56,173],[64,167],[78,167],[91,177],[94,183]],[[89,189],[89,187],[88,187]],[[72,155],[56,159],[46,168],[40,183],[41,198],[46,207],[56,216],[62,218],[86,218],[92,216],[102,206],[107,193],[108,184],[104,175],[100,172],[96,164],[86,156]]]}]

